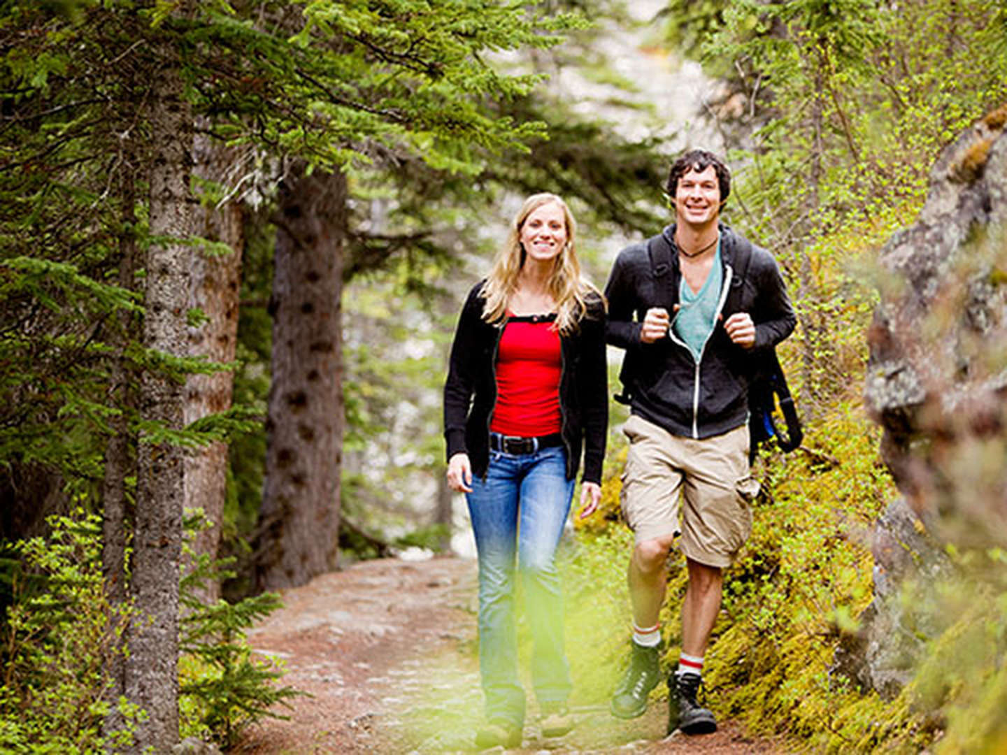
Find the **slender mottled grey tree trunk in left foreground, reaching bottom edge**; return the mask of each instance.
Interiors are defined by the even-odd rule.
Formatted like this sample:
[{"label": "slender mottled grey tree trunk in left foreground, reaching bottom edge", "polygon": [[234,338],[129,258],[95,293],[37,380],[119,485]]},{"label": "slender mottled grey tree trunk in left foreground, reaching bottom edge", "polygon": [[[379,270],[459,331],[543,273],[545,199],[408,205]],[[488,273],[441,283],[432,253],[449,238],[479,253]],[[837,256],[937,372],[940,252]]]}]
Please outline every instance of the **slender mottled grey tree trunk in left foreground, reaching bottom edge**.
[{"label": "slender mottled grey tree trunk in left foreground, reaching bottom edge", "polygon": [[[180,12],[180,11],[178,11]],[[144,344],[181,356],[191,254],[181,240],[192,230],[188,198],[192,122],[176,50],[162,46],[150,119],[150,234],[146,259]],[[178,241],[175,241],[178,240]],[[145,370],[140,386],[145,423],[178,430],[182,391],[163,373]],[[178,579],[181,558],[183,454],[151,431],[137,453],[133,594],[138,615],[129,637],[126,694],[147,714],[137,723],[134,752],[167,752],[178,740]]]}]

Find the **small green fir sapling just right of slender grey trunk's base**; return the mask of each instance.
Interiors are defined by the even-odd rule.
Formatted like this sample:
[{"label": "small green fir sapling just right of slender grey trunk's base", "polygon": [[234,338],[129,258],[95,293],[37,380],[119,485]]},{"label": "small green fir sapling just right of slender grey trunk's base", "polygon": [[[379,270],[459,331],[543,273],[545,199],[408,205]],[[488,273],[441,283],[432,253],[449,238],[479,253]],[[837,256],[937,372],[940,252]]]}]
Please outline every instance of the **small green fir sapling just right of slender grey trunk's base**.
[{"label": "small green fir sapling just right of slender grey trunk's base", "polygon": [[[205,526],[201,514],[187,522],[191,532]],[[222,747],[233,747],[241,733],[263,718],[286,718],[277,704],[305,693],[274,683],[283,675],[279,662],[257,658],[245,638],[256,621],[280,607],[275,593],[262,593],[230,603],[204,603],[200,590],[211,580],[233,577],[232,560],[196,555],[184,547],[189,569],[182,578],[183,607],[179,648],[179,710],[183,736],[209,737]]]}]

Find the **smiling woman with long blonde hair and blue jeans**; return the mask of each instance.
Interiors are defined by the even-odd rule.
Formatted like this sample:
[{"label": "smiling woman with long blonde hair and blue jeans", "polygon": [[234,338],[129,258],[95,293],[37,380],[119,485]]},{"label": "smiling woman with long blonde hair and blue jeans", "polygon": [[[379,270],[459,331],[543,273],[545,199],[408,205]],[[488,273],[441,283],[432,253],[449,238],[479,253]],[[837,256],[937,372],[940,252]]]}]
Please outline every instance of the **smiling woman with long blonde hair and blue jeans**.
[{"label": "smiling woman with long blonde hair and blue jeans", "polygon": [[522,741],[516,553],[542,732],[572,728],[554,555],[582,450],[581,516],[597,508],[608,424],[604,300],[580,278],[575,231],[555,194],[525,201],[489,277],[469,292],[444,387],[447,480],[466,493],[478,551],[483,748]]}]

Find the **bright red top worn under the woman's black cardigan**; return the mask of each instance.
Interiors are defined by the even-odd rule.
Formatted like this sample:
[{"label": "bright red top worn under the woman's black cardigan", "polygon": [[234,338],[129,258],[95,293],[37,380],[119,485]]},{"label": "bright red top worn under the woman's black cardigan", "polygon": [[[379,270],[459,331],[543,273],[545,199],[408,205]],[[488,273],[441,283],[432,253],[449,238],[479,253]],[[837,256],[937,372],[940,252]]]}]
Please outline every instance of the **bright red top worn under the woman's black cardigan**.
[{"label": "bright red top worn under the woman's black cardigan", "polygon": [[552,318],[512,317],[496,353],[496,405],[489,429],[525,438],[560,432],[563,355]]}]

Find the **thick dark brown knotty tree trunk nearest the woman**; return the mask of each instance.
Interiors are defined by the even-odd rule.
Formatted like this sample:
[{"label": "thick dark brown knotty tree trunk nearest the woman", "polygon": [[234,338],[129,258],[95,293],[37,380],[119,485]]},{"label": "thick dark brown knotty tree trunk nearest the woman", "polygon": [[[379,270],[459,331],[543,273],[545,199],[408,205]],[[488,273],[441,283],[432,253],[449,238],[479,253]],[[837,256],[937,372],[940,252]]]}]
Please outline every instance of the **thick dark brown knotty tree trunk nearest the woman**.
[{"label": "thick dark brown knotty tree trunk nearest the woman", "polygon": [[298,167],[281,186],[260,589],[304,584],[338,554],[345,207],[342,174]]}]

